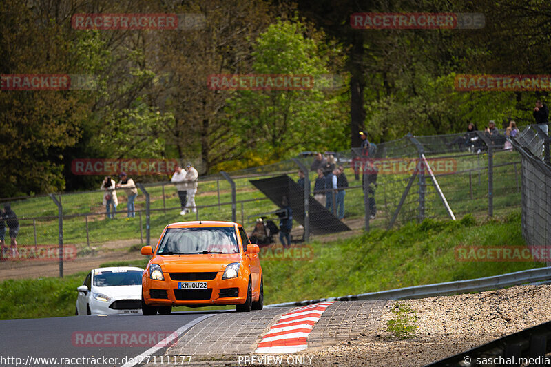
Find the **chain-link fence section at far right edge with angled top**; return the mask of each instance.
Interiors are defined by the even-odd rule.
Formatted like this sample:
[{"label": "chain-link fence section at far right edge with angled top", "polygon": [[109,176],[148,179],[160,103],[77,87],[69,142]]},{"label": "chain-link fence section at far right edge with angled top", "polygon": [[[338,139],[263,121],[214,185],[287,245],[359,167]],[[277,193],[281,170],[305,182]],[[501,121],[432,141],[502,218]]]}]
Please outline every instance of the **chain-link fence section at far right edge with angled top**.
[{"label": "chain-link fence section at far right edge with angled top", "polygon": [[512,139],[521,154],[522,235],[530,247],[551,243],[550,138],[546,130],[532,125]]}]

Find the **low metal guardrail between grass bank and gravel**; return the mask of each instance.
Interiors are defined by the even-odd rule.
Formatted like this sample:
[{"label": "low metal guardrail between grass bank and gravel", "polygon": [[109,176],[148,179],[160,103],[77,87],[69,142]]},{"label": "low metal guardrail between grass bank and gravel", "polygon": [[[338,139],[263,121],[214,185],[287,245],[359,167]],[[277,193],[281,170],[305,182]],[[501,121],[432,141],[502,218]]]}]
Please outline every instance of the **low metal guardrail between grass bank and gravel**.
[{"label": "low metal guardrail between grass bank and gravel", "polygon": [[298,302],[285,302],[269,304],[266,307],[304,306],[325,301],[357,301],[357,300],[404,300],[413,298],[435,297],[438,295],[450,295],[457,293],[469,293],[499,289],[507,286],[515,286],[524,283],[539,282],[551,279],[551,266],[545,268],[528,269],[494,275],[492,277],[480,277],[470,280],[457,280],[428,284],[423,286],[408,286],[406,288],[391,289],[388,291],[362,293],[358,295],[346,295],[344,297],[329,297],[320,300],[304,300]]}]

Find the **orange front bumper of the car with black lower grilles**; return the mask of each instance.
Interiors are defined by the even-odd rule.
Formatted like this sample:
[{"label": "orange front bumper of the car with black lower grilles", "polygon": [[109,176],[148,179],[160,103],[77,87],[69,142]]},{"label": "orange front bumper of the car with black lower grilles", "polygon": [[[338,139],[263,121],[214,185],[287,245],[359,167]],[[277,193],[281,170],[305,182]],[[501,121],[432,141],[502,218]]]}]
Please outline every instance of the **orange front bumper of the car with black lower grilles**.
[{"label": "orange front bumper of the car with black lower grilles", "polygon": [[187,281],[171,280],[166,273],[165,280],[152,280],[144,275],[142,290],[145,304],[148,306],[224,306],[243,304],[247,299],[248,281],[241,277],[222,280],[222,272],[218,272],[214,280],[194,281],[207,282],[206,290],[179,290],[180,282]]}]

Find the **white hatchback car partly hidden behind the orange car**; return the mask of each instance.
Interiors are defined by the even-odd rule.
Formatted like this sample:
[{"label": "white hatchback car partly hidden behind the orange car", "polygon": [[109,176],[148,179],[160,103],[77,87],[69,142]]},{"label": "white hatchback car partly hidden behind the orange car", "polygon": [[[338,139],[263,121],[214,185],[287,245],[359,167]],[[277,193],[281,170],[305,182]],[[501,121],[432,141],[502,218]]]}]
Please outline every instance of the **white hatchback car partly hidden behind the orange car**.
[{"label": "white hatchback car partly hidden behind the orange car", "polygon": [[76,290],[75,315],[112,315],[141,310],[143,269],[118,266],[93,269]]}]

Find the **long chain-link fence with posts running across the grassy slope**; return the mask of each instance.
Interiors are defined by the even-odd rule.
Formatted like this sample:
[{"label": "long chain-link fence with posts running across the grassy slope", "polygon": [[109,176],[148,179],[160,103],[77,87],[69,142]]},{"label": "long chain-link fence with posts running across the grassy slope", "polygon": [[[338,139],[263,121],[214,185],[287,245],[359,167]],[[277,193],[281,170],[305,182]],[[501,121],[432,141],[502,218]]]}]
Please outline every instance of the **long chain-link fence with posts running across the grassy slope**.
[{"label": "long chain-link fence with posts running across the grassy slope", "polygon": [[[273,165],[202,176],[196,211],[185,215],[180,214],[174,184],[168,180],[140,184],[138,176],[132,218],[127,217],[127,194],[122,189],[116,190],[113,219],[106,215],[102,190],[1,201],[10,202],[17,213],[18,247],[62,244],[74,248],[77,260],[107,254],[124,260],[142,244],[155,244],[168,223],[187,220],[237,221],[251,235],[262,218],[264,226],[273,227],[265,227],[267,242],[278,243],[278,230],[290,213],[291,242],[320,235],[337,239],[338,233],[350,229],[390,229],[411,220],[461,218],[467,213],[492,216],[520,207],[521,160],[517,151],[503,149],[505,141],[481,132],[408,135],[365,151],[328,153],[323,162],[316,162],[315,154],[301,154]],[[8,242],[9,238],[6,248]],[[24,259],[10,258],[9,253],[10,249],[3,260],[32,260],[30,254],[38,251],[26,251]],[[58,255],[61,273],[61,251]],[[23,264],[4,261],[0,271]],[[84,266],[89,265],[82,269],[88,270]]]}]

